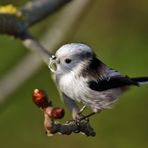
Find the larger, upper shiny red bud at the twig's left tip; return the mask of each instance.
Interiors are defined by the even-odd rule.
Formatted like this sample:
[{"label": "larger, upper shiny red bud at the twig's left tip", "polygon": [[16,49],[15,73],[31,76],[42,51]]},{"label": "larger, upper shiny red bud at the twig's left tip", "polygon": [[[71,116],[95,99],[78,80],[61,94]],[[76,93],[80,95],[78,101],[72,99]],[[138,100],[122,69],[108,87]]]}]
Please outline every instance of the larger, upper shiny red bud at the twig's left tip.
[{"label": "larger, upper shiny red bud at the twig's left tip", "polygon": [[35,89],[32,94],[33,102],[41,108],[46,108],[51,105],[48,101],[48,96],[45,91],[40,89]]}]

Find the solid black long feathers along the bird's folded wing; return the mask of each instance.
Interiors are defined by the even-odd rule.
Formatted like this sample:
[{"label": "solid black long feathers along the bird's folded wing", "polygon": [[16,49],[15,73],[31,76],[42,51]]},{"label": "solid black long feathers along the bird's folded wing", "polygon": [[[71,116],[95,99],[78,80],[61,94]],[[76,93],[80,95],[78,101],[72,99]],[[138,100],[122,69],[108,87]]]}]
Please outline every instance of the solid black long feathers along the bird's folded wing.
[{"label": "solid black long feathers along the bird's folded wing", "polygon": [[105,91],[108,89],[124,87],[129,85],[138,86],[138,83],[127,76],[112,76],[110,78],[104,77],[104,79],[98,79],[97,81],[92,80],[88,82],[89,88],[96,91]]}]

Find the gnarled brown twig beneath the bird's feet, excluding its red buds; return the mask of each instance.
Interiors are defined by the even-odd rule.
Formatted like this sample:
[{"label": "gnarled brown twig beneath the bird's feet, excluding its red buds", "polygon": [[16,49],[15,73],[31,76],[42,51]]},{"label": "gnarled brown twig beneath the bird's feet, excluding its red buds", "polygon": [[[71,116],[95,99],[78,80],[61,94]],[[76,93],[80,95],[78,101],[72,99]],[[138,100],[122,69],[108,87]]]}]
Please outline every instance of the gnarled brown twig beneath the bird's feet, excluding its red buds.
[{"label": "gnarled brown twig beneath the bird's feet, excluding its red buds", "polygon": [[44,127],[47,136],[53,134],[70,135],[72,133],[84,133],[86,136],[95,136],[93,128],[90,126],[89,122],[86,120],[80,121],[67,121],[64,124],[54,121],[48,114],[44,113]]}]

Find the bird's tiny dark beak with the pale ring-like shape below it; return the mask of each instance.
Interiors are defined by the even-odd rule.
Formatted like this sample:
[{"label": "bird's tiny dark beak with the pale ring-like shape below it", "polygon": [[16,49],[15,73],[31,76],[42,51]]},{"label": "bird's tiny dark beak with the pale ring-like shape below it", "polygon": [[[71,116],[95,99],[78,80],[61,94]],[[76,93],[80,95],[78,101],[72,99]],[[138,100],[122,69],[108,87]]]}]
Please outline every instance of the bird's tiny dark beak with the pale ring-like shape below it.
[{"label": "bird's tiny dark beak with the pale ring-like shape below it", "polygon": [[54,55],[52,55],[49,58],[49,64],[48,64],[49,69],[55,73],[57,70],[57,62],[56,62],[56,57]]}]

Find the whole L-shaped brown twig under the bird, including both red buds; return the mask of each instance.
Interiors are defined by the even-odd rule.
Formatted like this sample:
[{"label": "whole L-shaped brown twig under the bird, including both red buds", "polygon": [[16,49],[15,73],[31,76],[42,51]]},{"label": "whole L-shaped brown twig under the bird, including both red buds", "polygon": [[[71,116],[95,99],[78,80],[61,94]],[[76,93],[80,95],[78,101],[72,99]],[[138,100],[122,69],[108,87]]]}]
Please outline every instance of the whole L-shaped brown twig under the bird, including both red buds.
[{"label": "whole L-shaped brown twig under the bird, including both red buds", "polygon": [[41,108],[44,113],[44,129],[48,136],[59,133],[62,135],[70,135],[72,133],[84,133],[86,136],[95,136],[93,128],[89,124],[89,120],[71,120],[64,124],[56,122],[55,119],[63,118],[64,110],[62,108],[52,106],[52,102],[48,100],[45,91],[35,89],[33,92],[34,103]]}]

